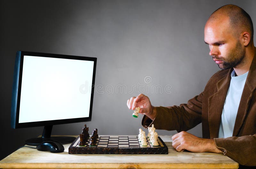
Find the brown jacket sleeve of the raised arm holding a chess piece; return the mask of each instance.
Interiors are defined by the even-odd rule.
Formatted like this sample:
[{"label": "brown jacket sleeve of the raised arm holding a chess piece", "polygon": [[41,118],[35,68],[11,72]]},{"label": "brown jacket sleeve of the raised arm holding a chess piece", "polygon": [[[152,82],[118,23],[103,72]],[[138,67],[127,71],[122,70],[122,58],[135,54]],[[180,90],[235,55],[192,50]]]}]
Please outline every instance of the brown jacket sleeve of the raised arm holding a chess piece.
[{"label": "brown jacket sleeve of the raised arm holding a chess piece", "polygon": [[146,115],[142,119],[142,126],[148,128],[155,124],[156,129],[187,131],[202,122],[203,92],[188,100],[187,104],[172,107],[156,107],[156,118],[152,121]]}]

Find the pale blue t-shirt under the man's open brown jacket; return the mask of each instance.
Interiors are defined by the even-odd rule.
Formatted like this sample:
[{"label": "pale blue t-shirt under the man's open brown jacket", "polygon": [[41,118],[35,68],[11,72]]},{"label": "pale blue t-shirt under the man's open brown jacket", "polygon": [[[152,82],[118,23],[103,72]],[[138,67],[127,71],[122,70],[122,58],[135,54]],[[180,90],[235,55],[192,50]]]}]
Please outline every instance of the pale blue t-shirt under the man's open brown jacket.
[{"label": "pale blue t-shirt under the man's open brown jacket", "polygon": [[222,110],[219,138],[231,137],[233,135],[236,114],[248,72],[240,76],[235,75],[236,73],[233,70],[231,73],[230,86]]}]

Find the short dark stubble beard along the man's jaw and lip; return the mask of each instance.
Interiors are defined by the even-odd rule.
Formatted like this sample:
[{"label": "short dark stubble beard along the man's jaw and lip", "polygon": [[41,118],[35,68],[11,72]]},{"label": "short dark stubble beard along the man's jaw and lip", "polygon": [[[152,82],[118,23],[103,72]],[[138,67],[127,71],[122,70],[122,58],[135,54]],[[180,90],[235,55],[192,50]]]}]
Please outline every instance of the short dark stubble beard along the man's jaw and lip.
[{"label": "short dark stubble beard along the man's jaw and lip", "polygon": [[223,63],[218,64],[218,66],[220,69],[226,70],[226,69],[234,68],[240,63],[242,63],[245,57],[244,54],[245,54],[245,51],[242,48],[242,44],[239,41],[237,41],[236,48],[230,51],[230,53],[227,55],[225,60],[223,57],[218,58],[216,56],[212,56],[212,59],[222,60]]}]

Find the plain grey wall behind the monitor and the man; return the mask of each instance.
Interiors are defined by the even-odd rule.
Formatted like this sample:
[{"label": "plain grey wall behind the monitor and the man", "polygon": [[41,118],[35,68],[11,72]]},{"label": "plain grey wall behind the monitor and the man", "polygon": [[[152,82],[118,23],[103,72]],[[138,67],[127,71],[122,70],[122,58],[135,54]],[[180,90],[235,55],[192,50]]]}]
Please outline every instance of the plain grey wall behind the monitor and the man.
[{"label": "plain grey wall behind the monitor and the man", "polygon": [[[204,44],[204,24],[213,11],[236,4],[256,23],[256,1],[116,0],[0,1],[1,119],[0,159],[42,134],[43,127],[11,129],[11,95],[17,50],[97,57],[90,134],[137,135],[141,119],[132,117],[126,101],[140,92],[154,106],[186,103],[203,91],[219,70]],[[149,81],[145,81],[146,78]],[[130,91],[116,90],[126,85]],[[148,91],[171,85],[171,93]],[[113,93],[105,90],[113,86]],[[71,112],[72,113],[72,112]],[[54,135],[78,135],[84,123],[53,126]],[[201,124],[189,130],[202,136]],[[146,131],[146,130],[145,130]],[[173,135],[176,131],[160,131]],[[9,145],[9,146],[7,146]]]}]

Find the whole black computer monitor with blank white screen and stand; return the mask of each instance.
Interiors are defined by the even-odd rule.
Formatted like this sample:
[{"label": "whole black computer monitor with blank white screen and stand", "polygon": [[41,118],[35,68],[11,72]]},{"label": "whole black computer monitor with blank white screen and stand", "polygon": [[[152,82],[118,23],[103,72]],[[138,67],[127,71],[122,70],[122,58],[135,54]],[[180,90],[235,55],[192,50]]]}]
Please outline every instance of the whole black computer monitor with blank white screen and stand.
[{"label": "whole black computer monitor with blank white screen and stand", "polygon": [[52,126],[91,121],[97,58],[17,51],[14,66],[12,128],[44,126],[46,140],[71,143],[75,137],[51,137]]}]

